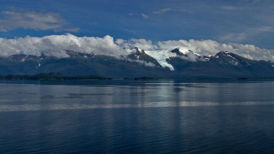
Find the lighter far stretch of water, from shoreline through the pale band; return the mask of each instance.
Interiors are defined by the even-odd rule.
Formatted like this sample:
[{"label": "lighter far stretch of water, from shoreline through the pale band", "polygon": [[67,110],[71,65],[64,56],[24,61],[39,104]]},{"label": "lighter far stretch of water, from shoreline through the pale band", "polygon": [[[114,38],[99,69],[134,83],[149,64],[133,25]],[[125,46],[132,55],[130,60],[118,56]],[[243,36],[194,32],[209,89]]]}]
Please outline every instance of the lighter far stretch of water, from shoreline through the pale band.
[{"label": "lighter far stretch of water, from shoreline through the pale band", "polygon": [[[2,81],[3,82],[3,81]],[[15,82],[15,83],[14,83]],[[273,81],[204,82],[108,81],[89,84],[0,84],[0,112],[128,107],[271,105]],[[51,82],[49,82],[51,83]],[[58,82],[57,82],[58,83]],[[69,83],[69,84],[68,84]],[[81,82],[80,82],[81,83]],[[111,84],[110,84],[111,83]]]}]

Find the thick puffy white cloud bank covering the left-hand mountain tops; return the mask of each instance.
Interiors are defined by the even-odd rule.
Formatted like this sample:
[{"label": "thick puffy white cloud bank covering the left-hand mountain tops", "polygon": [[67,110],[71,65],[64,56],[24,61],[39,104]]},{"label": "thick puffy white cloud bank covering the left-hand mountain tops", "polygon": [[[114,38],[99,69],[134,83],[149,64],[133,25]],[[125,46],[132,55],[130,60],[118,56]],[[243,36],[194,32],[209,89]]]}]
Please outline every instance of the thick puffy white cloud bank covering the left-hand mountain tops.
[{"label": "thick puffy white cloud bank covering the left-hand mountain tops", "polygon": [[0,38],[0,55],[8,56],[18,53],[27,55],[52,55],[68,57],[65,50],[98,55],[125,55],[126,51],[114,42],[111,36],[77,37],[72,34],[5,39]]}]

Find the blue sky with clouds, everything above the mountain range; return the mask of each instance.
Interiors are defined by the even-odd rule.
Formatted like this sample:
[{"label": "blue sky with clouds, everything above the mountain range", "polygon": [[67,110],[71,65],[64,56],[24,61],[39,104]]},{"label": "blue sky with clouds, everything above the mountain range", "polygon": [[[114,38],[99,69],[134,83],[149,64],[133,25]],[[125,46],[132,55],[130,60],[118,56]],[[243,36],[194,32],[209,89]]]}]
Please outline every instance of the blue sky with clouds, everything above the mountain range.
[{"label": "blue sky with clouds, everything above the mountain range", "polygon": [[[231,49],[245,57],[274,60],[272,0],[0,0],[0,10],[0,55],[21,52],[35,38],[42,41],[40,47],[45,40],[40,38],[47,36],[75,36],[77,41],[110,36],[105,38],[112,41],[110,47],[131,42],[147,50],[170,49],[162,45],[169,42],[201,54]],[[9,43],[14,47],[3,53]],[[119,47],[114,47],[117,52]]]}]

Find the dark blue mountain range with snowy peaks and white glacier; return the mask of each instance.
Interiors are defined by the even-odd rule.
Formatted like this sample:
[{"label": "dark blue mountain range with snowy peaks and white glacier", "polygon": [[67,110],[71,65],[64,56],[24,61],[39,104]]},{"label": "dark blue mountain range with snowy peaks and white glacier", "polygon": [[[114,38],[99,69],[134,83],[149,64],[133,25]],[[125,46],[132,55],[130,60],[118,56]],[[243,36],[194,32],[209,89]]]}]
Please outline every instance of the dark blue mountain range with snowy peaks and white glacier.
[{"label": "dark blue mountain range with snowy peaks and white glacier", "polygon": [[[158,51],[159,52],[159,51]],[[95,55],[66,50],[69,57],[11,55],[0,57],[0,75],[97,75],[101,77],[157,77],[177,79],[274,79],[274,64],[249,60],[228,51],[199,55],[173,49],[166,53],[132,48],[127,55]]]}]

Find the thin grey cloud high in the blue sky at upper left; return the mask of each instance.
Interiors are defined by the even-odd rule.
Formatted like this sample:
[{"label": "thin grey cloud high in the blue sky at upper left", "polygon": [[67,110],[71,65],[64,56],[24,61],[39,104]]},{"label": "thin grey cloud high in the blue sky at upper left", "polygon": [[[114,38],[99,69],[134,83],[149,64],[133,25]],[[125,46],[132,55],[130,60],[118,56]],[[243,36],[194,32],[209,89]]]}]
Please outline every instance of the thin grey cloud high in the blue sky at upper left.
[{"label": "thin grey cloud high in the blue sky at upper left", "polygon": [[35,29],[54,31],[77,32],[76,27],[69,27],[69,23],[58,13],[34,12],[34,11],[2,11],[3,18],[0,19],[0,31],[11,29]]}]

